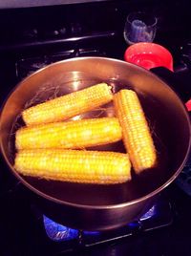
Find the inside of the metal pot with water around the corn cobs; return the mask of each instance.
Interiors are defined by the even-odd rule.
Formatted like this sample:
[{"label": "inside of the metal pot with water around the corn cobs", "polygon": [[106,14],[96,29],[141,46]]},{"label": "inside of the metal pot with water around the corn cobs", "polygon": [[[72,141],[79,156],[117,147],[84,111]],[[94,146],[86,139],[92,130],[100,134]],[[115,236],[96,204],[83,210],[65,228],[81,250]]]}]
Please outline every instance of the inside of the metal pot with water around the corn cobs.
[{"label": "inside of the metal pot with water around the corn cobs", "polygon": [[[13,169],[15,131],[24,125],[21,111],[47,99],[107,82],[113,93],[133,89],[138,93],[158,152],[159,164],[115,185],[79,184],[21,177]],[[114,117],[113,103],[76,118]],[[13,174],[35,192],[52,199],[83,205],[113,205],[141,198],[180,172],[190,143],[189,120],[180,98],[157,76],[137,66],[107,58],[76,58],[55,63],[24,79],[8,97],[1,115],[1,149]],[[122,141],[95,150],[125,152]],[[42,195],[42,194],[41,194]]]}]

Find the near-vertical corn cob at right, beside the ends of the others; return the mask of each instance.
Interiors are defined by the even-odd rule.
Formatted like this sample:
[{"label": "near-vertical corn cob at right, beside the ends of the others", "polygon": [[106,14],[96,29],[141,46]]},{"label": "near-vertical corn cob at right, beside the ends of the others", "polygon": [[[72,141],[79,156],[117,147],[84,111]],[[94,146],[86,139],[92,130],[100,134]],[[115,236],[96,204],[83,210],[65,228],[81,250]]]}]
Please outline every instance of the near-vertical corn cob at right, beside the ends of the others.
[{"label": "near-vertical corn cob at right, beside the ends of the others", "polygon": [[157,154],[137,94],[121,90],[114,96],[115,110],[122,127],[124,146],[136,172],[154,167]]}]

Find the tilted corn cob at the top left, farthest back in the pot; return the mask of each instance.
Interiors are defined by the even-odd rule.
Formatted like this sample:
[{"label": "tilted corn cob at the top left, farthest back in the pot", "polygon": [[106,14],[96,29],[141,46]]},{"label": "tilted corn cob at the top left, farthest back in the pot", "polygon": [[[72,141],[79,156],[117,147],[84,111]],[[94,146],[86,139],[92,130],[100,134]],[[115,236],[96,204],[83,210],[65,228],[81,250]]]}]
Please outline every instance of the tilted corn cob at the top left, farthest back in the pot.
[{"label": "tilted corn cob at the top left, farthest back in the pot", "polygon": [[110,86],[100,83],[32,106],[23,111],[22,117],[27,125],[61,121],[93,110],[112,99]]}]

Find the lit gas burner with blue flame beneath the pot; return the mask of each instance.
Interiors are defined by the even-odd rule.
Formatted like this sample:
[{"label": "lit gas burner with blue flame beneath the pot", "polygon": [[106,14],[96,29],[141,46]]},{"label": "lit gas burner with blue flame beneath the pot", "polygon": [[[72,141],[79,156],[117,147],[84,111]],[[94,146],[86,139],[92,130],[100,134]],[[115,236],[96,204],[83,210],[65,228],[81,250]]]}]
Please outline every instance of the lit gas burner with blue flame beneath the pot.
[{"label": "lit gas burner with blue flame beneath the pot", "polygon": [[75,246],[89,247],[114,242],[125,237],[169,226],[173,224],[174,213],[173,204],[160,197],[157,203],[138,221],[109,231],[77,230],[57,224],[45,215],[43,215],[42,219],[46,235],[51,241],[62,244],[74,242]]}]

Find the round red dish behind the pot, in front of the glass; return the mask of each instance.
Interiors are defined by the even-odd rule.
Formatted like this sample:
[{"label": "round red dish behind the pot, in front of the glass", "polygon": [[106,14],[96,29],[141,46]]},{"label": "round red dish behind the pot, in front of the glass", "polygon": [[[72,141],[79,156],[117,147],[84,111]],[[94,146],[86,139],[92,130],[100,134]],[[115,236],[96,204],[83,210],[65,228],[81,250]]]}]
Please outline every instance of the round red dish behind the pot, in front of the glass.
[{"label": "round red dish behind the pot, in front of the glass", "polygon": [[165,67],[173,71],[173,56],[163,46],[155,43],[136,43],[127,48],[124,60],[147,70]]}]

